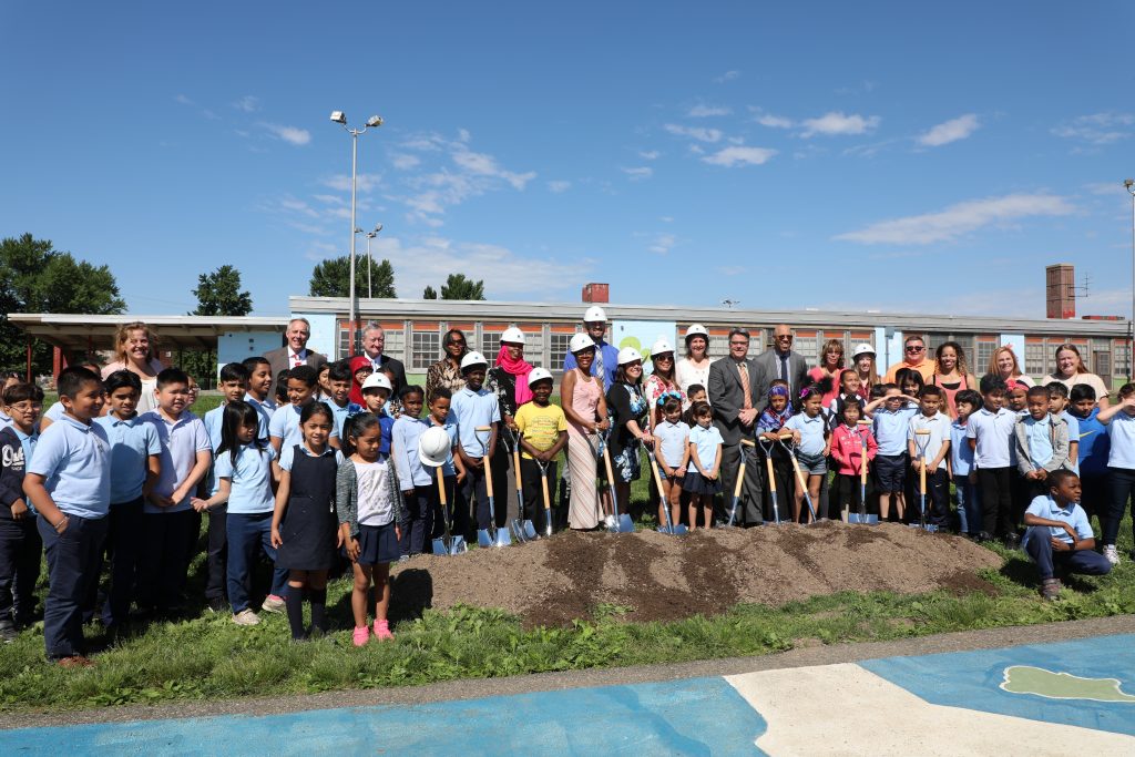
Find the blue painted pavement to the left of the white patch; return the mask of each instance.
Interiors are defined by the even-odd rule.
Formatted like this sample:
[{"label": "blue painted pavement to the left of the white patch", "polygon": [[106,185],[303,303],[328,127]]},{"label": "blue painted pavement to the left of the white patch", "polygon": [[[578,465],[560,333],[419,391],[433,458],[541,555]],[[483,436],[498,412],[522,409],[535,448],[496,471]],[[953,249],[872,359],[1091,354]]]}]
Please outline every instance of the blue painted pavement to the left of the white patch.
[{"label": "blue painted pavement to the left of the white patch", "polygon": [[765,721],[724,679],[410,707],[0,731],[0,755],[760,755]]}]

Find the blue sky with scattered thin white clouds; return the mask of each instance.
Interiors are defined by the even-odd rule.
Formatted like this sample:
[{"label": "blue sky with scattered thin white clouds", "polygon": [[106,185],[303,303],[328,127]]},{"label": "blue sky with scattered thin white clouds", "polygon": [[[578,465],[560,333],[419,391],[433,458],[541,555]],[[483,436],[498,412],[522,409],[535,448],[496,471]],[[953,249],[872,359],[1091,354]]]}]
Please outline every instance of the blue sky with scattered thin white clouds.
[{"label": "blue sky with scattered thin white clouds", "polygon": [[402,296],[1041,317],[1066,261],[1128,313],[1135,7],[923,6],[9,1],[0,235],[284,313],[348,249],[339,109]]}]

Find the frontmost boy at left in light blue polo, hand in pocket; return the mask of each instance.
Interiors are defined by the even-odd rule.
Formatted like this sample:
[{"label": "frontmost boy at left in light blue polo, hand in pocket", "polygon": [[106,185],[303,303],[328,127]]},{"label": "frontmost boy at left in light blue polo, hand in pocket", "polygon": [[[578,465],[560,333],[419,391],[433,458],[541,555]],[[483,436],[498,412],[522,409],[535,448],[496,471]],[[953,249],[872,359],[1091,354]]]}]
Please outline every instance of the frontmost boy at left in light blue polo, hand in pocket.
[{"label": "frontmost boy at left in light blue polo, hand in pocket", "polygon": [[83,653],[83,600],[98,580],[110,508],[110,440],[94,419],[104,394],[99,376],[67,368],[56,382],[64,414],[40,435],[24,476],[24,494],[39,513],[48,556],[43,607],[48,658],[66,667],[91,665]]}]

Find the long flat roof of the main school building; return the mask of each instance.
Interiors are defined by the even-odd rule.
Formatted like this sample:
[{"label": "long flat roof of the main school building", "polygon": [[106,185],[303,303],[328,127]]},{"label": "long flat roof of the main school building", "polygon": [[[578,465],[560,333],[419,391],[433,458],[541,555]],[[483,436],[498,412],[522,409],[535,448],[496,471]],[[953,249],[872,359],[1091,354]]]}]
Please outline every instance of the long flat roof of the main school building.
[{"label": "long flat roof of the main school building", "polygon": [[[293,313],[347,313],[346,297],[292,296]],[[839,325],[847,328],[891,326],[900,331],[942,331],[977,334],[1076,334],[1099,337],[1123,337],[1128,323],[1123,321],[1082,320],[1078,318],[1011,318],[999,316],[951,316],[832,310],[754,310],[687,305],[624,305],[596,303],[611,320],[661,320],[720,325],[756,326],[787,322],[793,327]],[[360,318],[409,318],[436,320],[543,320],[579,321],[589,303],[582,302],[501,302],[470,300],[367,300],[359,301]]]}]

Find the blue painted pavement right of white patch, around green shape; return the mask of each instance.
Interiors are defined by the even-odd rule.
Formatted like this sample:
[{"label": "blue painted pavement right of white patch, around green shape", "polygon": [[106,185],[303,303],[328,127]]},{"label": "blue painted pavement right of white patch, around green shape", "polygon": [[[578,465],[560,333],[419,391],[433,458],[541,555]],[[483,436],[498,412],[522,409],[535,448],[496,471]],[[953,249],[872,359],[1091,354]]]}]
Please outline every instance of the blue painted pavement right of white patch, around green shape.
[{"label": "blue painted pavement right of white patch, around green shape", "polygon": [[1033,665],[1081,678],[1119,679],[1124,691],[1135,692],[1135,636],[924,657],[889,657],[859,664],[935,705],[1135,735],[1135,705],[1130,703],[1049,699],[1010,693],[1000,688],[1006,667]]}]

